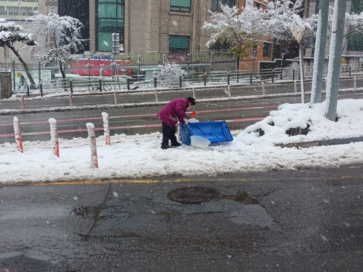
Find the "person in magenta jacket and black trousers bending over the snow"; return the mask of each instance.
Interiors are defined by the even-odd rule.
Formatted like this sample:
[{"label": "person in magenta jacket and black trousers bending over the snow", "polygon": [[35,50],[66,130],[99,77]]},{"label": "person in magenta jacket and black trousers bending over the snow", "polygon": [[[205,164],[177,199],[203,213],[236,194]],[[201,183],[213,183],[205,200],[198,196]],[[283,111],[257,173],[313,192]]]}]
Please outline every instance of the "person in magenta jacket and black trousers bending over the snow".
[{"label": "person in magenta jacket and black trousers bending over the snow", "polygon": [[[162,149],[181,146],[175,136],[175,125],[179,122],[185,124],[184,119],[189,119],[190,116],[186,115],[185,111],[191,106],[195,105],[193,97],[177,98],[166,104],[161,111],[156,115],[163,123],[163,141],[161,143]],[[171,141],[171,146],[169,145]]]}]

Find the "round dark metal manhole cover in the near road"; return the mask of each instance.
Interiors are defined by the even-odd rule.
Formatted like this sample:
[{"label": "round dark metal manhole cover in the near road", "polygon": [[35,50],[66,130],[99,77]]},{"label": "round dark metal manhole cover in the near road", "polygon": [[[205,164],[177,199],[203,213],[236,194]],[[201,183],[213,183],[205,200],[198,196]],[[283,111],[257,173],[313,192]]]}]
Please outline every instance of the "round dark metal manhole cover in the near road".
[{"label": "round dark metal manhole cover in the near road", "polygon": [[181,203],[205,202],[212,200],[218,195],[218,191],[206,187],[184,187],[173,190],[167,194],[170,200]]}]

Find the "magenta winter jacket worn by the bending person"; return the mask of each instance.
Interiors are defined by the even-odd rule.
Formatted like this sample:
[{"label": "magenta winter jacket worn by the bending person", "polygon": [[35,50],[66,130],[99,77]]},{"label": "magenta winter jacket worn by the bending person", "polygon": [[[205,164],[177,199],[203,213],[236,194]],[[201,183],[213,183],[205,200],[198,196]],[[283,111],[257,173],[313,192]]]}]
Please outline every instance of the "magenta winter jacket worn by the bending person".
[{"label": "magenta winter jacket worn by the bending person", "polygon": [[189,101],[186,98],[177,98],[166,104],[161,111],[156,115],[166,125],[174,128],[179,122],[185,124],[186,108],[189,106]]}]

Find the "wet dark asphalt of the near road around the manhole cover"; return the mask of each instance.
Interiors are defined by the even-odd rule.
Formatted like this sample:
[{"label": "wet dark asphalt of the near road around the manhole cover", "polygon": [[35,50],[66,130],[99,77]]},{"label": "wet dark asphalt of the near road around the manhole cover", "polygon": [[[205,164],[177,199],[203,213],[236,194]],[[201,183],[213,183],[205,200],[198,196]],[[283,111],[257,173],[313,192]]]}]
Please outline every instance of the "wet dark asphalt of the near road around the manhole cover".
[{"label": "wet dark asphalt of the near road around the manhole cover", "polygon": [[361,272],[362,167],[3,186],[0,272]]}]

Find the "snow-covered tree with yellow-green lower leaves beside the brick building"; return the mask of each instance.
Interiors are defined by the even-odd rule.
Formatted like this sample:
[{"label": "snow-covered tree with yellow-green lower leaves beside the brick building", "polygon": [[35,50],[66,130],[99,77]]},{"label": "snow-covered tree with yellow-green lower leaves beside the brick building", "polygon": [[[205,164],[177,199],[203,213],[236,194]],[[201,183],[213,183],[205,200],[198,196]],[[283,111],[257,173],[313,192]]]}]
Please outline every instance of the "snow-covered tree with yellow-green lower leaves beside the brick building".
[{"label": "snow-covered tree with yellow-green lower leaves beside the brick building", "polygon": [[268,35],[269,25],[264,20],[265,14],[262,9],[242,8],[236,6],[229,7],[221,4],[222,12],[209,10],[211,19],[204,22],[203,29],[211,29],[206,47],[210,48],[215,44],[229,44],[229,52],[235,53],[237,57],[237,70],[239,70],[239,60],[246,58],[250,54],[248,49],[257,44],[258,39]]}]

